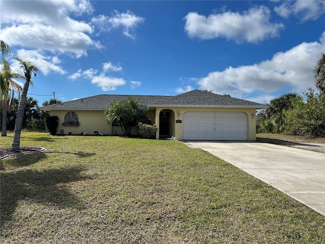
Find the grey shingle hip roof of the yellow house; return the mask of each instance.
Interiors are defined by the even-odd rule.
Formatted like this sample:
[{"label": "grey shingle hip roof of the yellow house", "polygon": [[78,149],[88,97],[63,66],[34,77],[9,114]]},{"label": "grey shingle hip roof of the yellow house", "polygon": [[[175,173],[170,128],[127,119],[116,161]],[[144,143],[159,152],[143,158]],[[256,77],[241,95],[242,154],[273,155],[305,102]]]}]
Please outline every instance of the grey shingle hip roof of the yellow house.
[{"label": "grey shingle hip roof of the yellow house", "polygon": [[191,90],[177,96],[139,96],[139,95],[97,95],[64,103],[51,104],[43,110],[104,110],[113,100],[116,102],[132,97],[149,107],[251,107],[264,108],[263,104],[242,99],[213,94],[203,90]]}]

